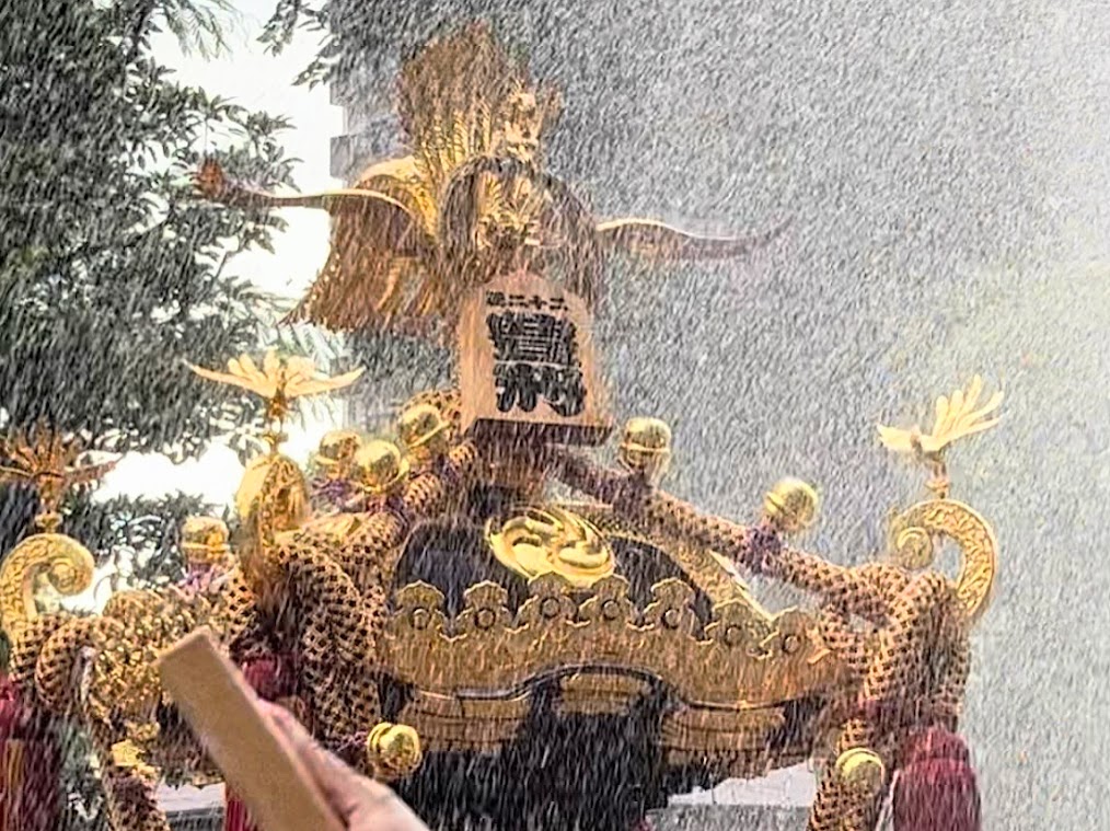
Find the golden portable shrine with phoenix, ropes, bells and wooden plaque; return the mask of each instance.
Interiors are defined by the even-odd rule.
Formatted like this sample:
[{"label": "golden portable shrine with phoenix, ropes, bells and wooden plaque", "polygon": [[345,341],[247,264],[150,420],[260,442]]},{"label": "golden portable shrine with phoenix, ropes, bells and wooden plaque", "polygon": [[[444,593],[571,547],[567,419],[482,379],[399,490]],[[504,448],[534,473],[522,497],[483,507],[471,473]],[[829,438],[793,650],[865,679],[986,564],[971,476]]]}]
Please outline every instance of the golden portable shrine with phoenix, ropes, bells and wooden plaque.
[{"label": "golden portable shrine with phoenix, ropes, bells and wooden plaque", "polygon": [[[774,232],[595,221],[542,166],[556,107],[471,27],[403,67],[412,155],[355,188],[274,196],[204,166],[208,199],[332,213],[332,253],[295,317],[454,344],[455,385],[415,395],[392,439],[327,434],[310,476],[281,453],[290,403],[359,372],[321,377],[273,352],[193,367],[266,399],[270,449],[248,465],[234,534],[185,523],[183,582],[118,592],[97,615],[44,614],[36,596],[43,580],[90,585],[92,556],[57,533],[57,506],[102,470],[57,436],[11,444],[3,474],[38,487],[43,510],[0,566],[18,711],[6,828],[51,827],[33,797],[51,720],[91,736],[117,831],[168,829],[160,782],[218,779],[154,671],[201,626],[262,697],[432,828],[627,831],[670,794],[807,760],[821,768],[814,831],[870,831],[890,791],[899,829],[976,827],[956,730],[997,545],[950,496],[946,454],[995,423],[1000,395],[981,402],[976,378],[937,399],[929,433],[880,428],[929,493],[867,565],[789,545],[817,517],[805,483],[774,486],[748,524],[666,493],[670,429],[615,425],[596,363],[604,254],[733,257]],[[934,568],[945,540],[962,555],[955,580]],[[744,572],[814,605],[771,614]],[[249,825],[233,794],[225,822]]]}]

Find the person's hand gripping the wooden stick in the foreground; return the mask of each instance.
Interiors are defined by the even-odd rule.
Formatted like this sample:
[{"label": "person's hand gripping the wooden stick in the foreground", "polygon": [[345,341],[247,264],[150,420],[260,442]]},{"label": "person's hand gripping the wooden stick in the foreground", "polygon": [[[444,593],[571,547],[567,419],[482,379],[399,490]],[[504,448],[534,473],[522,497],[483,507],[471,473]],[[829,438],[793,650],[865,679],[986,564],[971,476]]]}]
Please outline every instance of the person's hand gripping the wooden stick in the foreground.
[{"label": "person's hand gripping the wooden stick in the foreground", "polygon": [[304,762],[347,831],[428,831],[391,788],[360,776],[321,748],[287,710],[265,701],[259,703]]}]

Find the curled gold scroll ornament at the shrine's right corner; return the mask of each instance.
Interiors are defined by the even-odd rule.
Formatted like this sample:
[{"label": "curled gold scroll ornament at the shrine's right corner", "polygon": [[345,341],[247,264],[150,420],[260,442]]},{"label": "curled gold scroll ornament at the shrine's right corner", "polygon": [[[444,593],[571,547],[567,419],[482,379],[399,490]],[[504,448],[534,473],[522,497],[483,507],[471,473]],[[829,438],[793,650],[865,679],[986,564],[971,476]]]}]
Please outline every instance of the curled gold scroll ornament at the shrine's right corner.
[{"label": "curled gold scroll ornament at the shrine's right corner", "polygon": [[978,511],[955,499],[930,499],[896,517],[890,537],[896,561],[910,569],[932,565],[937,537],[952,539],[961,553],[956,594],[972,621],[987,610],[998,574],[998,541]]}]

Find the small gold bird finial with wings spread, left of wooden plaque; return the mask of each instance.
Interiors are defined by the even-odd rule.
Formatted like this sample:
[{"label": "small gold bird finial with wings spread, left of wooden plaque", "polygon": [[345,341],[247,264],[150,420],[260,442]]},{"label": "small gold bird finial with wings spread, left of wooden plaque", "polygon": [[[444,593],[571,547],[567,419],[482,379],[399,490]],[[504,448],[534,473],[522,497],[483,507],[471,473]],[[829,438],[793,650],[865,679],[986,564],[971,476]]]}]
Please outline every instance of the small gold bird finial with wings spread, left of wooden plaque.
[{"label": "small gold bird finial with wings spread, left of wooden plaque", "polygon": [[225,373],[188,363],[186,366],[202,378],[238,386],[265,398],[270,428],[264,438],[270,444],[271,453],[276,453],[278,446],[285,440],[282,430],[293,398],[342,389],[357,381],[363,373],[360,367],[333,378],[316,377],[316,365],[311,358],[290,357],[283,361],[278,357],[276,349],[266,352],[261,368],[245,354],[231,358]]}]

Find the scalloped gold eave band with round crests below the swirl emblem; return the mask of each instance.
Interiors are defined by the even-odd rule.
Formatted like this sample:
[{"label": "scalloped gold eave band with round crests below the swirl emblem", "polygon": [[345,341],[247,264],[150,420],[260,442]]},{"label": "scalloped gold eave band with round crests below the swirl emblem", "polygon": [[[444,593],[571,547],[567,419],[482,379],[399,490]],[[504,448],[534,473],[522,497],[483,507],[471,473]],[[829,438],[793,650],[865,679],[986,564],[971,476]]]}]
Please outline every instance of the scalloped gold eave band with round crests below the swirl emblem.
[{"label": "scalloped gold eave band with round crests below the swirl emblem", "polygon": [[842,681],[842,667],[810,637],[814,620],[801,612],[768,617],[733,600],[714,608],[702,636],[693,591],[682,580],[656,584],[643,616],[623,577],[595,584],[581,606],[555,575],[533,580],[529,590],[514,618],[505,590],[480,584],[467,591],[458,617],[447,620],[437,589],[400,589],[385,668],[428,695],[467,700],[568,668],[654,676],[684,700],[716,707],[769,706]]}]

